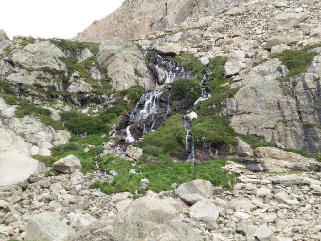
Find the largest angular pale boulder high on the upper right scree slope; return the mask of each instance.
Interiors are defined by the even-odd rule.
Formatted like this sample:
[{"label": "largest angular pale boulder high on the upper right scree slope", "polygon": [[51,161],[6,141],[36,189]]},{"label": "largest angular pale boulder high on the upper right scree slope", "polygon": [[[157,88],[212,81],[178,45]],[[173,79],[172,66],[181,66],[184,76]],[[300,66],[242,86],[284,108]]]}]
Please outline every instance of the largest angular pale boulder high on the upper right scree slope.
[{"label": "largest angular pale boulder high on the upper right scree slope", "polygon": [[281,13],[272,18],[269,25],[271,30],[291,29],[300,22],[304,22],[309,18],[307,13]]}]

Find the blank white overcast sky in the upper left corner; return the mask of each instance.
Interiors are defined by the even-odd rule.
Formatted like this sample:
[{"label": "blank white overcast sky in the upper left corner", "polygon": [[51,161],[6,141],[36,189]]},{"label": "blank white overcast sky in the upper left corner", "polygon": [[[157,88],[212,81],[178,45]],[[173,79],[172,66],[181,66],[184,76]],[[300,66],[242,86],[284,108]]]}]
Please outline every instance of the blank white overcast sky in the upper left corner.
[{"label": "blank white overcast sky in the upper left corner", "polygon": [[1,1],[0,29],[34,38],[72,38],[124,0],[9,0]]}]

